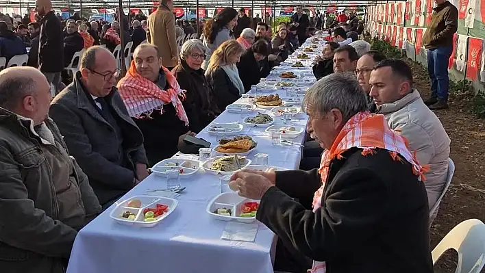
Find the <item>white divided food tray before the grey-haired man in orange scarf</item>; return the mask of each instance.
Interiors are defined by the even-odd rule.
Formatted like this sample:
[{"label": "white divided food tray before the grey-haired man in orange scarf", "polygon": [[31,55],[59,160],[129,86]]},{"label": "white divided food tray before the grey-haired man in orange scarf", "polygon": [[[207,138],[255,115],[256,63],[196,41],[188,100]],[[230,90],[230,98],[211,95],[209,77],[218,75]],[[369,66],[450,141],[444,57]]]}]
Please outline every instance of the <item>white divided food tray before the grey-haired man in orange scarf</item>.
[{"label": "white divided food tray before the grey-haired man in orange scarf", "polygon": [[259,200],[239,196],[237,192],[224,192],[207,205],[207,213],[217,220],[251,223],[256,221]]}]

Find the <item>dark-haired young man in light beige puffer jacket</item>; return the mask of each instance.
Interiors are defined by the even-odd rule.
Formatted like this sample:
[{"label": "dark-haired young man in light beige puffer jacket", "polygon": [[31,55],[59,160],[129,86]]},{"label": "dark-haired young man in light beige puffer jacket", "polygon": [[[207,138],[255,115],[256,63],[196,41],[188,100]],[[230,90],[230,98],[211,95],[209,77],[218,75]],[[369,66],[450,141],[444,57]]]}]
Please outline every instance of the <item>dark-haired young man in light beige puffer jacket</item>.
[{"label": "dark-haired young man in light beige puffer jacket", "polygon": [[425,175],[425,186],[432,209],[446,183],[449,137],[418,90],[412,88],[412,72],[406,62],[391,59],[377,63],[369,83],[377,113],[384,114],[390,128],[408,139],[419,163],[430,166]]}]

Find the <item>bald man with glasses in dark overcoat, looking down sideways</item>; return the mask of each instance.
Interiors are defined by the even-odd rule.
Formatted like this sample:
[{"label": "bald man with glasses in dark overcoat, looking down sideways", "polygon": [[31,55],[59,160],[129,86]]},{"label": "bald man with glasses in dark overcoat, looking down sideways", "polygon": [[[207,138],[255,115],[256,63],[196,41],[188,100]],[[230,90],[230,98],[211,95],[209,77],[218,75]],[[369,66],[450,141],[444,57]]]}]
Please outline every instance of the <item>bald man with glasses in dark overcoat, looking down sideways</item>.
[{"label": "bald man with glasses in dark overcoat, looking down sideways", "polygon": [[113,86],[119,70],[112,53],[90,47],[79,62],[73,83],[55,96],[49,115],[106,209],[148,176],[143,135]]}]

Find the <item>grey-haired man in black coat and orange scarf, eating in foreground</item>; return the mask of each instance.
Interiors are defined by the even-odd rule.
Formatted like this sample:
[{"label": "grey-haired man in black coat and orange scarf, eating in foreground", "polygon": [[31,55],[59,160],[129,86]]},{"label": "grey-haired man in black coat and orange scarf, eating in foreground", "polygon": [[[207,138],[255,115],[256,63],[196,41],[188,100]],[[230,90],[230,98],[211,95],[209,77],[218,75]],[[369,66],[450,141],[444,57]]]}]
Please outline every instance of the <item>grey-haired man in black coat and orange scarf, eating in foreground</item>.
[{"label": "grey-haired man in black coat and orange scarf, eating in foreground", "polygon": [[423,168],[382,115],[369,114],[349,73],[303,100],[307,131],[325,152],[318,170],[243,170],[229,187],[260,199],[256,219],[278,237],[275,270],[433,272]]}]

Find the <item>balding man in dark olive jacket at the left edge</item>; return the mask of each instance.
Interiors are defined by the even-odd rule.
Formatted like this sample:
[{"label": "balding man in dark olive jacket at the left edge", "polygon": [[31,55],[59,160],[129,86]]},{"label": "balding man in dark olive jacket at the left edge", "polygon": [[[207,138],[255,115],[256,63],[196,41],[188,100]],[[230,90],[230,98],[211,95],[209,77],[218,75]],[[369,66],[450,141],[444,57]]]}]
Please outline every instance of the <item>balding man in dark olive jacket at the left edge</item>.
[{"label": "balding man in dark olive jacket at the left edge", "polygon": [[64,272],[77,231],[101,212],[47,116],[50,101],[39,70],[0,72],[1,272]]}]

